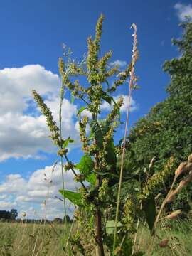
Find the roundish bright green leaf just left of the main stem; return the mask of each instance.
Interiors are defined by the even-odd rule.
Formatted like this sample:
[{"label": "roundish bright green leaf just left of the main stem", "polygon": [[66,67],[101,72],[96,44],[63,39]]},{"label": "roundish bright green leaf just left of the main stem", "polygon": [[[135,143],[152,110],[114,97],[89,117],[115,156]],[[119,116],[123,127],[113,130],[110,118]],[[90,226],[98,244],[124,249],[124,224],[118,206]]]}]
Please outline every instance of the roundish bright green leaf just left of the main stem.
[{"label": "roundish bright green leaf just left of the main stem", "polygon": [[76,168],[80,170],[81,174],[84,174],[86,177],[91,174],[94,163],[92,158],[88,155],[82,156],[79,164],[77,164]]}]

